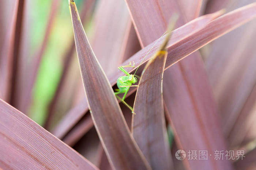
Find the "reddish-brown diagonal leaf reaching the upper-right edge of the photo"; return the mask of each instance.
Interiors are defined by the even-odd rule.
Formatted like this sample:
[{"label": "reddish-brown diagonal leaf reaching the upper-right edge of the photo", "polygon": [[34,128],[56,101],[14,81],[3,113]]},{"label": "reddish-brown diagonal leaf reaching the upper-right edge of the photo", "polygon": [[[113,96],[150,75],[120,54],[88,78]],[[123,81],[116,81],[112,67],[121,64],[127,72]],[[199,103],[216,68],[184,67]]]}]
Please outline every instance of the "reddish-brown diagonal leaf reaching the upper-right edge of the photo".
[{"label": "reddish-brown diagonal leaf reaching the upper-right edge of the photo", "polygon": [[[192,52],[205,46],[227,32],[245,24],[256,17],[256,3],[229,12],[208,23],[204,28],[193,32],[168,48],[166,66],[169,67]],[[224,24],[225,23],[225,24]],[[170,43],[169,43],[170,44]]]}]

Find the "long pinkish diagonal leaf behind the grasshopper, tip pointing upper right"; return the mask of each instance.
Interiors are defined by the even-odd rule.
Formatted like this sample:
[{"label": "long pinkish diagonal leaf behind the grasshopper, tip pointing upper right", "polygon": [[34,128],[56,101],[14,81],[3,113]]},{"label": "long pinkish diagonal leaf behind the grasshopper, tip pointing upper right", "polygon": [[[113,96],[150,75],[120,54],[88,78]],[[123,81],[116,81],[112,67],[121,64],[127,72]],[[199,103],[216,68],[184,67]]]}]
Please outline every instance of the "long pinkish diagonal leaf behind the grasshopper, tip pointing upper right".
[{"label": "long pinkish diagonal leaf behind the grasshopper, tip pointing upper right", "polygon": [[[189,33],[204,27],[208,22],[215,19],[221,14],[222,12],[219,11],[213,14],[205,15],[183,25],[182,27],[172,32],[172,38],[170,39],[170,41],[176,42],[182,39],[183,37],[187,36]],[[148,53],[145,60],[148,60],[152,55],[154,55],[154,52],[156,52],[156,50],[159,48],[163,39],[164,38],[162,37],[157,44],[155,44],[155,42],[149,44],[147,47],[143,48],[142,50],[137,52],[135,55],[133,55],[132,58],[126,60],[123,64],[127,65],[129,64],[130,61],[134,61],[135,65],[139,66],[139,63],[142,61],[142,59],[148,53],[148,51],[150,51],[152,46],[155,46],[155,48],[152,48],[152,50]],[[127,67],[126,70],[131,72],[133,69],[131,67]],[[120,76],[123,76],[123,73],[120,72],[118,69],[116,69],[114,74],[111,74],[110,76],[108,76],[110,80],[110,84],[113,86],[116,83],[116,80],[118,79],[118,77]],[[53,129],[52,134],[56,135],[56,137],[58,138],[64,137],[64,135],[75,125],[75,123],[77,123],[83,117],[83,115],[88,111],[88,106],[86,106],[87,105],[86,99],[84,99],[84,101],[81,101],[77,106],[75,106],[74,108],[72,108],[67,112],[67,114],[60,121],[60,123]]]}]

